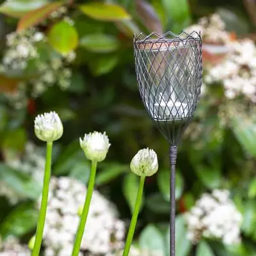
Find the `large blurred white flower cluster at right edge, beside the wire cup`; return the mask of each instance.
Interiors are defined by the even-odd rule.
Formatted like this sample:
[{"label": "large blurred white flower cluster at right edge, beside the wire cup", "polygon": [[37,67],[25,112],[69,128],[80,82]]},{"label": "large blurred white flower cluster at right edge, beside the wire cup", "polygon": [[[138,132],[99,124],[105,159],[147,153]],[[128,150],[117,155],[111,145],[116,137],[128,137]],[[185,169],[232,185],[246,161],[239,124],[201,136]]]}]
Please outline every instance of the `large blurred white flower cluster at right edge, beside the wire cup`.
[{"label": "large blurred white flower cluster at right edge, beside the wire cup", "polygon": [[205,75],[205,83],[223,83],[225,96],[235,99],[243,95],[256,102],[256,47],[252,40],[230,42],[227,58],[210,68]]}]

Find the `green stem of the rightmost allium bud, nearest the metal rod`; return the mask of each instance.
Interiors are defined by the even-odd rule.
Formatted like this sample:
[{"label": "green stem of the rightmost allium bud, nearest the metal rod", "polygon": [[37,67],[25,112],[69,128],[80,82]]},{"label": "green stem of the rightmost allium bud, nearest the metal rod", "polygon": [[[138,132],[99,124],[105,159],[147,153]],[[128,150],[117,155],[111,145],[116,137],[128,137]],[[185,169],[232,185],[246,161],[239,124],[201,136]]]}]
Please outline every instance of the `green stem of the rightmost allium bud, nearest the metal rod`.
[{"label": "green stem of the rightmost allium bud, nearest the metal rod", "polygon": [[137,198],[136,198],[136,204],[135,204],[135,207],[134,207],[134,212],[132,214],[132,220],[131,220],[129,232],[128,232],[128,235],[127,235],[127,240],[126,240],[126,243],[125,243],[123,256],[128,256],[129,255],[129,250],[130,250],[130,247],[131,247],[131,244],[132,244],[132,239],[133,239],[134,230],[135,230],[136,223],[137,223],[138,214],[140,212],[144,182],[145,182],[145,176],[141,176],[140,177],[140,186],[139,186],[138,194],[137,194]]}]

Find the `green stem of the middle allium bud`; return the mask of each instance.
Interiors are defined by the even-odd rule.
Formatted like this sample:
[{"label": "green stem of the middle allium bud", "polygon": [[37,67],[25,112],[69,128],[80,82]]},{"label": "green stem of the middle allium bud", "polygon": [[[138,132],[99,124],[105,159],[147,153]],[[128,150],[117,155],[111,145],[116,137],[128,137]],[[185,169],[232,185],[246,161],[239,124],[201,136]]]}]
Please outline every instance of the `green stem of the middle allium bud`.
[{"label": "green stem of the middle allium bud", "polygon": [[88,183],[86,198],[85,198],[85,201],[84,201],[84,207],[83,207],[83,212],[82,212],[82,215],[81,215],[81,220],[80,220],[80,223],[79,223],[79,227],[77,229],[77,234],[76,234],[76,239],[75,239],[75,243],[74,243],[74,247],[73,247],[72,256],[77,256],[79,254],[81,241],[83,239],[83,234],[84,234],[84,227],[85,227],[85,224],[86,224],[86,220],[87,220],[87,216],[88,216],[88,212],[89,212],[89,207],[90,207],[90,202],[91,202],[91,199],[92,199],[96,169],[97,169],[97,162],[92,161],[90,179],[89,179],[89,183]]}]

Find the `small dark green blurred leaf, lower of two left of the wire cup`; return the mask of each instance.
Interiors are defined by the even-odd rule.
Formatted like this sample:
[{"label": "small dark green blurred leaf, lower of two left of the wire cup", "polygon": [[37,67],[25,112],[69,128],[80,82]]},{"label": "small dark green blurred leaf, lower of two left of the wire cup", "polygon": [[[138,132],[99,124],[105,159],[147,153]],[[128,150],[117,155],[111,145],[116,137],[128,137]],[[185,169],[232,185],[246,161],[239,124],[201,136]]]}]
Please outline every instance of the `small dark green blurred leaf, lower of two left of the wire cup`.
[{"label": "small dark green blurred leaf, lower of two left of the wire cup", "polygon": [[115,55],[99,56],[90,61],[89,67],[94,76],[108,74],[116,67],[118,57]]}]

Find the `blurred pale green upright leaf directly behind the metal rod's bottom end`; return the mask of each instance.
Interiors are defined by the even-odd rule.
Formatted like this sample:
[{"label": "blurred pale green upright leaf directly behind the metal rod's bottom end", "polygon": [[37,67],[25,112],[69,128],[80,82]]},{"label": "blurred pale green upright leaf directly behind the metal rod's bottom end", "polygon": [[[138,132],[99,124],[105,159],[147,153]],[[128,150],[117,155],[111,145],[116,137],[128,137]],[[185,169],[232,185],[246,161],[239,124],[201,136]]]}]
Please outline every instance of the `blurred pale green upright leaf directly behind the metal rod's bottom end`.
[{"label": "blurred pale green upright leaf directly behind the metal rod's bottom end", "polygon": [[[179,215],[176,217],[176,255],[177,256],[188,256],[190,255],[191,250],[191,243],[187,239],[187,229],[186,229],[186,223],[185,218],[183,215]],[[170,230],[168,229],[168,232],[166,234],[166,239],[168,242],[168,246],[170,248]],[[168,250],[169,252],[169,250]]]}]

